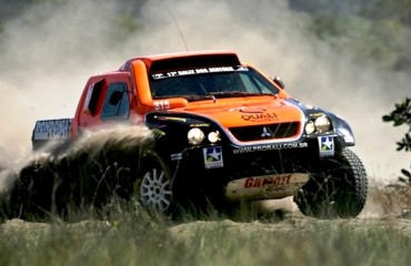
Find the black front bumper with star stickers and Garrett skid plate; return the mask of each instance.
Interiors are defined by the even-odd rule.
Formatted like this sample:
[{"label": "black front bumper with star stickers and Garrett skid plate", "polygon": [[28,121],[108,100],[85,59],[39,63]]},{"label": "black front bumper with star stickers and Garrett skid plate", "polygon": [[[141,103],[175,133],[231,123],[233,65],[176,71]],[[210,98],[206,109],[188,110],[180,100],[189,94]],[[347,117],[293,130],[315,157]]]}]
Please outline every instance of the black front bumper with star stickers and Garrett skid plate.
[{"label": "black front bumper with star stickers and Garrett skid plate", "polygon": [[[199,195],[231,200],[284,197],[293,194],[308,181],[307,173],[312,165],[320,163],[323,157],[338,155],[342,147],[343,139],[337,134],[305,137],[292,143],[192,146],[172,155],[172,158],[179,161],[173,183],[178,187],[177,194],[190,194],[189,197]],[[231,193],[237,190],[237,183],[244,185],[244,182],[250,181],[248,178],[261,177],[261,182],[267,182],[283,174],[305,174],[307,178],[301,177],[288,184],[255,185],[255,190],[247,190],[243,197],[233,196]],[[232,184],[235,184],[234,188]],[[268,194],[267,190],[274,193]],[[281,190],[284,193],[281,193]]]}]

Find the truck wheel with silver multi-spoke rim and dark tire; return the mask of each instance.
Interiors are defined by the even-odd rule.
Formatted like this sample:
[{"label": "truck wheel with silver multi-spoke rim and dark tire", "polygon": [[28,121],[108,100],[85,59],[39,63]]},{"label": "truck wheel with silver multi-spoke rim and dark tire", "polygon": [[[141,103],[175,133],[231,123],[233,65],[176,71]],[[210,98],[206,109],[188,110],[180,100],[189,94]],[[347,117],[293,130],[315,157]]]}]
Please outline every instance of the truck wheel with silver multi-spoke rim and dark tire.
[{"label": "truck wheel with silver multi-spoke rim and dark tire", "polygon": [[170,171],[154,152],[143,155],[134,184],[133,200],[151,214],[170,215],[174,208]]}]

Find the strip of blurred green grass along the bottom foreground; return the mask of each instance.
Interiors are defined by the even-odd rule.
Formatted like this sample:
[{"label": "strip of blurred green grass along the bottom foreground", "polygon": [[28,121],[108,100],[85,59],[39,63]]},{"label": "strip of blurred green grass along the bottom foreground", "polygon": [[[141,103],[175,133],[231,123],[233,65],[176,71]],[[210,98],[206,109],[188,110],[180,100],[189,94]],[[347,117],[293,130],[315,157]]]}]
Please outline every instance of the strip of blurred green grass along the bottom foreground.
[{"label": "strip of blurred green grass along the bottom foreground", "polygon": [[[410,236],[379,222],[154,222],[137,209],[107,221],[0,225],[0,265],[408,265]],[[409,223],[411,225],[411,223]],[[394,228],[395,226],[393,226]],[[395,227],[398,228],[398,226]]]}]

